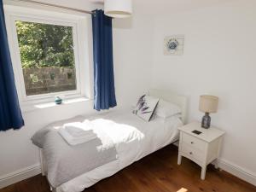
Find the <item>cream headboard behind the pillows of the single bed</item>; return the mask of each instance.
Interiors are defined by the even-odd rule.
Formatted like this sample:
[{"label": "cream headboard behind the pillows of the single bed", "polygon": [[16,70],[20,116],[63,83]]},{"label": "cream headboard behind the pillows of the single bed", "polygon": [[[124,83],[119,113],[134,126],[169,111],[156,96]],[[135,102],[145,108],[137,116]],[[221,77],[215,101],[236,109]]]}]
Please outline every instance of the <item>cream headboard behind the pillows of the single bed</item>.
[{"label": "cream headboard behind the pillows of the single bed", "polygon": [[172,102],[177,104],[182,110],[182,121],[186,123],[187,120],[187,97],[186,96],[178,96],[177,94],[169,91],[169,90],[148,90],[149,96],[158,97],[160,99],[165,100],[166,102]]}]

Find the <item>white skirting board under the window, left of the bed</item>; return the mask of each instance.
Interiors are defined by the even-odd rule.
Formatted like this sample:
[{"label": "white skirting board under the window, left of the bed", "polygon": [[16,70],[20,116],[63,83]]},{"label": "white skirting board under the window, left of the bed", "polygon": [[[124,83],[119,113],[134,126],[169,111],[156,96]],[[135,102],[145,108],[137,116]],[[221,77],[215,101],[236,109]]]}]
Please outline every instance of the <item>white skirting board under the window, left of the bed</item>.
[{"label": "white skirting board under the window, left of the bed", "polygon": [[26,178],[38,175],[41,172],[39,164],[28,166],[16,172],[11,172],[3,177],[0,177],[0,189],[9,186],[10,184],[20,182]]}]

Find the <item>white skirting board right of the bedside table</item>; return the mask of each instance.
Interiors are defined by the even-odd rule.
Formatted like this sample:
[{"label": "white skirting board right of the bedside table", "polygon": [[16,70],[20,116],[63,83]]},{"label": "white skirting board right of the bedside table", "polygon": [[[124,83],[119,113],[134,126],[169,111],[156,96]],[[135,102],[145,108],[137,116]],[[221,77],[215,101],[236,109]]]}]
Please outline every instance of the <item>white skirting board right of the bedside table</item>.
[{"label": "white skirting board right of the bedside table", "polygon": [[232,175],[241,178],[247,183],[251,183],[256,186],[256,173],[251,172],[242,168],[241,166],[236,166],[228,160],[218,159],[218,167],[223,169],[225,172],[230,172]]}]

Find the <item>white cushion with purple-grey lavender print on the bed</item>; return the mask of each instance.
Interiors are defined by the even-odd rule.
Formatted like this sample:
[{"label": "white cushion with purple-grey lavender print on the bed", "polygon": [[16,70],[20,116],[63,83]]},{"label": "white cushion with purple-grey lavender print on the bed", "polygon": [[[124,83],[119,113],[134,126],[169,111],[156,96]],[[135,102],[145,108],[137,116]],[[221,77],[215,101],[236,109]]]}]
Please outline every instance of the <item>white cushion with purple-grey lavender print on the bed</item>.
[{"label": "white cushion with purple-grey lavender print on the bed", "polygon": [[144,119],[145,121],[149,121],[154,113],[154,109],[156,108],[158,102],[158,98],[147,95],[141,96],[138,99],[137,106],[133,110],[133,113],[137,114],[137,116]]}]

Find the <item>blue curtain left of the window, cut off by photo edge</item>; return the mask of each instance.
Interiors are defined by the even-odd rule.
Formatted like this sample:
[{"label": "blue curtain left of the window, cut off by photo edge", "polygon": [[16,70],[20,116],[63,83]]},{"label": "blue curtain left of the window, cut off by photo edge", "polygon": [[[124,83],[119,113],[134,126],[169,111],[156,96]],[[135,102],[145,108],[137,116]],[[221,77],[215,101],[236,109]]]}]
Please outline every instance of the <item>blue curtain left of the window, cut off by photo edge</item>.
[{"label": "blue curtain left of the window, cut off by photo edge", "polygon": [[15,77],[9,55],[3,0],[0,0],[0,131],[19,129],[24,125],[15,88]]}]

